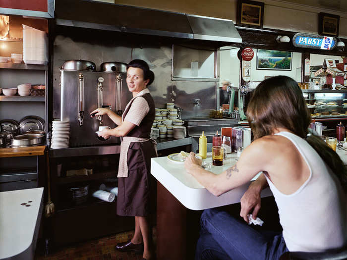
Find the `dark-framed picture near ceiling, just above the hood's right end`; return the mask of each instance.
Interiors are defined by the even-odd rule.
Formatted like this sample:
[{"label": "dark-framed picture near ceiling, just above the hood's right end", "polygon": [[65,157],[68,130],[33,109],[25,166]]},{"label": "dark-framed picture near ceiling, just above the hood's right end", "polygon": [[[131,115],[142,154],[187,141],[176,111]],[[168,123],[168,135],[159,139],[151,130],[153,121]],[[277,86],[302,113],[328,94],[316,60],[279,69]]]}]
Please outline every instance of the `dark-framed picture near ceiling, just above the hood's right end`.
[{"label": "dark-framed picture near ceiling, just above the hood's right end", "polygon": [[237,23],[263,27],[264,3],[250,0],[238,0]]}]

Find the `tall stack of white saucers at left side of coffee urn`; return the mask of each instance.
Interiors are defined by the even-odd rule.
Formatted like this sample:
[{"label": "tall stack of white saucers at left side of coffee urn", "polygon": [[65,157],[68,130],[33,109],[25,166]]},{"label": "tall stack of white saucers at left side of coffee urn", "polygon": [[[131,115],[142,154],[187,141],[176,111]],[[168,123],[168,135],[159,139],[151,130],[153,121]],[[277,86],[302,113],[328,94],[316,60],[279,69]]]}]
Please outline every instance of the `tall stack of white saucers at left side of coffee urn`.
[{"label": "tall stack of white saucers at left side of coffee urn", "polygon": [[68,148],[70,136],[70,122],[52,122],[52,149]]}]

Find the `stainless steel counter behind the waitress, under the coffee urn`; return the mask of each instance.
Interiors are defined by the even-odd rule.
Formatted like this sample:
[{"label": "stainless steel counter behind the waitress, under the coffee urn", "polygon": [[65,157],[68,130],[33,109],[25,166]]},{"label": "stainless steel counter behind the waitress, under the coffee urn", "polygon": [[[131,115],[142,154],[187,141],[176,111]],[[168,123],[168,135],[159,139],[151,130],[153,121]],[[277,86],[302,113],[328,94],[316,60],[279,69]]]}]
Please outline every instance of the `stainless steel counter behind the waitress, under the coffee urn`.
[{"label": "stainless steel counter behind the waitress, under the coffee urn", "polygon": [[[182,139],[157,139],[157,150],[165,150],[173,147],[191,145],[192,138],[186,137]],[[64,149],[51,149],[51,157],[73,157],[73,156],[96,156],[96,155],[113,155],[120,153],[120,145],[106,146],[89,146],[89,147],[74,147]]]}]

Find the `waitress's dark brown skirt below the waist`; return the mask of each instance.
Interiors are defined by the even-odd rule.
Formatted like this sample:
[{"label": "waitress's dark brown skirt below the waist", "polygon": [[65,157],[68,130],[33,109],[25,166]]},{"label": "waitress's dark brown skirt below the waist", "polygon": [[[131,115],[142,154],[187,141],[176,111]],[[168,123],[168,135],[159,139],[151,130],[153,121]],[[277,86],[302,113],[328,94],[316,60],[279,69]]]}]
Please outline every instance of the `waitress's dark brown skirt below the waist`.
[{"label": "waitress's dark brown skirt below the waist", "polygon": [[147,216],[150,209],[151,158],[156,152],[151,141],[131,143],[127,155],[128,177],[118,178],[117,214]]}]

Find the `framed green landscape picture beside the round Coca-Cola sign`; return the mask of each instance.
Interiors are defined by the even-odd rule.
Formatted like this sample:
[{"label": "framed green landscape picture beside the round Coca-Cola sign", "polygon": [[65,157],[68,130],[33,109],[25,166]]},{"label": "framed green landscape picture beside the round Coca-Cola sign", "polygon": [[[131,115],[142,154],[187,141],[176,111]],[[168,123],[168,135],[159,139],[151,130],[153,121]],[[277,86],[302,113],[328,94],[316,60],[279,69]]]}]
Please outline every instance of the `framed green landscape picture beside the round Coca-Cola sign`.
[{"label": "framed green landscape picture beside the round Coca-Cola sign", "polygon": [[257,69],[291,70],[291,52],[257,50]]}]

